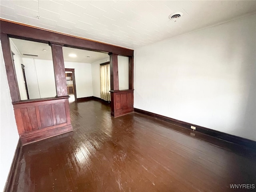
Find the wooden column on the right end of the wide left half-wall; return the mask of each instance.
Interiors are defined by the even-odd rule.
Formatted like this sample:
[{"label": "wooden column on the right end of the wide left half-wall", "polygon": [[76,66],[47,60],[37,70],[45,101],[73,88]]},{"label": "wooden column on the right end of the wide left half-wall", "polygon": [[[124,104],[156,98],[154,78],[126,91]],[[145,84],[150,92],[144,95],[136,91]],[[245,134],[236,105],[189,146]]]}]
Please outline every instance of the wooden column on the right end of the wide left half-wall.
[{"label": "wooden column on the right end of the wide left half-wall", "polygon": [[68,96],[66,76],[65,76],[65,66],[64,66],[64,59],[63,59],[63,52],[62,52],[63,44],[50,42],[49,45],[52,47],[52,60],[53,60],[56,93],[57,93],[56,97]]}]

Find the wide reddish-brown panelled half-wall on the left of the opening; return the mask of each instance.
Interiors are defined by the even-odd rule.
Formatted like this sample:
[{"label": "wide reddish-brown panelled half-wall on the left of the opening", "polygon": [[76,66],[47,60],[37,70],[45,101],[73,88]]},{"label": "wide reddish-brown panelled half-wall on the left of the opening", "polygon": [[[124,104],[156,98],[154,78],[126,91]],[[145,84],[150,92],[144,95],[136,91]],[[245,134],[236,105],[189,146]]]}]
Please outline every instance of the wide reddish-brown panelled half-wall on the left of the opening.
[{"label": "wide reddish-brown panelled half-wall on the left of the opening", "polygon": [[14,102],[14,114],[22,145],[73,130],[69,96]]}]

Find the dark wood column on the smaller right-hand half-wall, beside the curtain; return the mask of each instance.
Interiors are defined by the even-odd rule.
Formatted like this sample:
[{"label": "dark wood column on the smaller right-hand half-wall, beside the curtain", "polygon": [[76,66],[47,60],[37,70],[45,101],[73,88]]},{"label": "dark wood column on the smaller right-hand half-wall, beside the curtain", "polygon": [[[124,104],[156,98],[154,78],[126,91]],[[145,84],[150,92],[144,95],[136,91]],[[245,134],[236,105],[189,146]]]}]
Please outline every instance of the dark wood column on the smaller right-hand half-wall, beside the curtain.
[{"label": "dark wood column on the smaller right-hand half-wall, beside the curtain", "polygon": [[119,90],[118,59],[117,54],[109,53],[110,56],[110,90]]}]

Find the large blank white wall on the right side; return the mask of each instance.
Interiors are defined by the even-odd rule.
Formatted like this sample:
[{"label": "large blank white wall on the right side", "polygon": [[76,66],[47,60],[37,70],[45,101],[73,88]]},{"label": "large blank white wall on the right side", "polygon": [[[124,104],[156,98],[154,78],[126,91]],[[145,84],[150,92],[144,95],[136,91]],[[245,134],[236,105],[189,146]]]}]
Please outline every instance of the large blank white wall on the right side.
[{"label": "large blank white wall on the right side", "polygon": [[256,140],[256,14],[134,50],[134,107]]}]

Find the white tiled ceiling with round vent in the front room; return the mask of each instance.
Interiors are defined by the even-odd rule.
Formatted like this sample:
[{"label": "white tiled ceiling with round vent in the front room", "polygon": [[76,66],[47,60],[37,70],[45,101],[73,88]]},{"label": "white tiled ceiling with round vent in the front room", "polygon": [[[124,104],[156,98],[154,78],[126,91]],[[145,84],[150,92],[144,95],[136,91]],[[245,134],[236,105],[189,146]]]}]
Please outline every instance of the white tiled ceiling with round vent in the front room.
[{"label": "white tiled ceiling with round vent in the front room", "polygon": [[0,0],[1,18],[133,49],[255,12],[255,0]]}]

